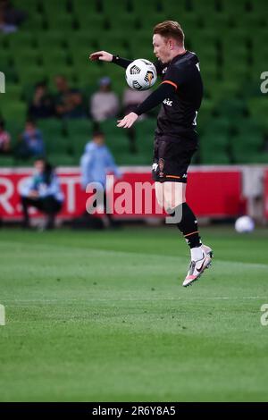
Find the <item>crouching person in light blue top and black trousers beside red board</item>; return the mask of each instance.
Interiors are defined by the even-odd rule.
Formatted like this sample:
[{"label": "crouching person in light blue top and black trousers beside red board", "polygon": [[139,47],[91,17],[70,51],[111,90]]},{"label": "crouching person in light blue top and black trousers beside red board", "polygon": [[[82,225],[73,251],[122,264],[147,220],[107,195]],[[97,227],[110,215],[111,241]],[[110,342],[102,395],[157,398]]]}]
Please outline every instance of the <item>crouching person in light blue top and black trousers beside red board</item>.
[{"label": "crouching person in light blue top and black trousers beside red board", "polygon": [[63,206],[60,182],[53,167],[44,158],[38,158],[34,168],[33,176],[21,187],[23,227],[30,227],[29,206],[33,206],[46,214],[44,229],[54,229],[55,216]]}]

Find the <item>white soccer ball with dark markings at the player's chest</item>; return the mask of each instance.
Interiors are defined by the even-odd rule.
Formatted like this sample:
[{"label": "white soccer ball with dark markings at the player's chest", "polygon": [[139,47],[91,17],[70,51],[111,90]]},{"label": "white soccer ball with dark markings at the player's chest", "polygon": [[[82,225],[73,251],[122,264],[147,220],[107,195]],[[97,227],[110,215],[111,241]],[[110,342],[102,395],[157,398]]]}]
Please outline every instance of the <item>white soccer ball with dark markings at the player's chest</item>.
[{"label": "white soccer ball with dark markings at the player's chest", "polygon": [[157,73],[155,65],[144,58],[130,63],[126,70],[126,80],[130,88],[147,90],[155,85]]}]

